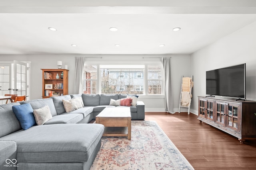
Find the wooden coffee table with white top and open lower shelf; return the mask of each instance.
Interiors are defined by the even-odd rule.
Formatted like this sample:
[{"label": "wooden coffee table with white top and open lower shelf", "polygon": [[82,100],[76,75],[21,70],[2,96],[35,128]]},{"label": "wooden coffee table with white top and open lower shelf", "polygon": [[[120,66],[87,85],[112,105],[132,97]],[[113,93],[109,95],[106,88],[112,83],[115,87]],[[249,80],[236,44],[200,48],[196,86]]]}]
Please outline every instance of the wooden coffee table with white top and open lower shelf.
[{"label": "wooden coffee table with white top and open lower shelf", "polygon": [[96,123],[105,126],[103,136],[127,136],[131,139],[130,107],[106,107],[96,116]]}]

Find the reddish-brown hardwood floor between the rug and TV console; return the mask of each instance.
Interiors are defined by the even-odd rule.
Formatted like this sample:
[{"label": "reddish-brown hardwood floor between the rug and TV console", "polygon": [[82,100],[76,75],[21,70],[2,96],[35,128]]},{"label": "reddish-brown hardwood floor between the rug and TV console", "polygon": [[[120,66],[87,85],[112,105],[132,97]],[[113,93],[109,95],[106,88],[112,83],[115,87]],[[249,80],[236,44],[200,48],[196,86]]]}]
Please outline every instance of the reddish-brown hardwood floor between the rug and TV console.
[{"label": "reddish-brown hardwood floor between the rug and TV console", "polygon": [[145,112],[145,120],[156,121],[195,170],[256,169],[256,141],[240,143],[197,117],[187,112]]}]

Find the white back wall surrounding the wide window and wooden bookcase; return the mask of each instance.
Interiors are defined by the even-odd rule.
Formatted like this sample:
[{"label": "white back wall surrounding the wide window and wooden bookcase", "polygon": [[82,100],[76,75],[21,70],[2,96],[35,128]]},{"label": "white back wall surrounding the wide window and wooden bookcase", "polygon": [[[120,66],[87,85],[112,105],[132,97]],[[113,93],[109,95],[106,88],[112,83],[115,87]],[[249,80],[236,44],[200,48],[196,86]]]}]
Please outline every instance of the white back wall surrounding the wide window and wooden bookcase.
[{"label": "white back wall surrounding the wide window and wooden bookcase", "polygon": [[[73,94],[75,57],[83,56],[86,62],[95,63],[160,63],[160,57],[172,57],[172,86],[174,93],[174,111],[178,111],[181,77],[190,75],[190,55],[0,55],[0,61],[31,62],[30,100],[42,98],[41,68],[58,68],[57,61],[68,65],[68,92]],[[165,111],[164,96],[141,96],[146,111]],[[186,110],[185,110],[186,111]]]}]

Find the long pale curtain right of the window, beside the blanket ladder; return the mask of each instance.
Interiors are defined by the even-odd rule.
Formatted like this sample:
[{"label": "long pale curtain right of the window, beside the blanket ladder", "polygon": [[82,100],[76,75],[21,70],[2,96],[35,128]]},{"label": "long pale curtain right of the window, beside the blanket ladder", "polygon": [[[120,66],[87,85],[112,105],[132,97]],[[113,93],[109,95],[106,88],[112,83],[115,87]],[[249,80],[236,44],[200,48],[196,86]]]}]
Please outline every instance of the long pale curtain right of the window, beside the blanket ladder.
[{"label": "long pale curtain right of the window, beside the blanket ladder", "polygon": [[168,113],[173,112],[173,94],[172,94],[172,80],[171,80],[171,58],[162,57],[161,62],[164,68],[163,79],[164,79],[164,96],[165,96],[165,109]]}]

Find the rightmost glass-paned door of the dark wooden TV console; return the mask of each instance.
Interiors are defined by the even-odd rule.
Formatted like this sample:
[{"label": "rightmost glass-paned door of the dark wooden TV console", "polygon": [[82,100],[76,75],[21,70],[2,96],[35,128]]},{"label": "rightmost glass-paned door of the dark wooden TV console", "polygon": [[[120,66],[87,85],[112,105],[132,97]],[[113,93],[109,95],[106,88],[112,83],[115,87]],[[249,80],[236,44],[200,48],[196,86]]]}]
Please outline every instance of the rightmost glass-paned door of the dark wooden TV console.
[{"label": "rightmost glass-paned door of the dark wooden TV console", "polygon": [[239,123],[238,123],[238,111],[240,111],[240,105],[238,104],[229,104],[227,110],[227,122],[226,126],[235,130],[239,130]]}]

